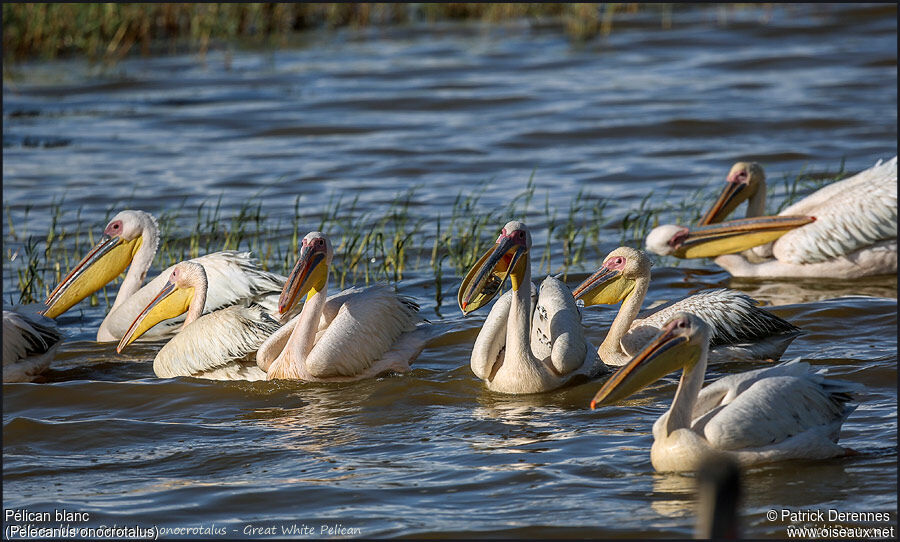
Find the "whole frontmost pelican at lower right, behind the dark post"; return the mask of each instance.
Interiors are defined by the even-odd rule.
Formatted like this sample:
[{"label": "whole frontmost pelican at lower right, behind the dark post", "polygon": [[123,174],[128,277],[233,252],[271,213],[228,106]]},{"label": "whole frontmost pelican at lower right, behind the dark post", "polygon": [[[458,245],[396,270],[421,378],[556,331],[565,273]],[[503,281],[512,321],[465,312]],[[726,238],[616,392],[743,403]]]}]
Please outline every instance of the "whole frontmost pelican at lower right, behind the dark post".
[{"label": "whole frontmost pelican at lower right, behind the dark post", "polygon": [[620,401],[679,369],[672,406],[653,424],[650,462],[658,472],[693,471],[710,454],[741,466],[854,453],[837,444],[860,386],[825,379],[799,359],[729,375],[706,386],[712,330],[698,316],[675,314],[643,350],[600,388],[591,408]]}]

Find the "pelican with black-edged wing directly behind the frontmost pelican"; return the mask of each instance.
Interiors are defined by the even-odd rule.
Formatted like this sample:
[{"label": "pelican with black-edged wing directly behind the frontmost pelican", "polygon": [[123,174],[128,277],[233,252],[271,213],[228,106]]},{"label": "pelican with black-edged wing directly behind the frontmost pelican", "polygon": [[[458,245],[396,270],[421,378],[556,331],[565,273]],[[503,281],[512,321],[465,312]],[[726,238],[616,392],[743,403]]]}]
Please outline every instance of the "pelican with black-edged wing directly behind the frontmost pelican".
[{"label": "pelican with black-edged wing directly behind the frontmost pelican", "polygon": [[800,330],[757,307],[750,296],[734,290],[700,292],[644,312],[641,304],[650,287],[650,258],[640,250],[619,247],[606,257],[596,273],[573,292],[585,306],[622,301],[606,339],[598,349],[607,365],[624,365],[656,335],[671,316],[690,311],[712,329],[713,361],[776,360]]}]

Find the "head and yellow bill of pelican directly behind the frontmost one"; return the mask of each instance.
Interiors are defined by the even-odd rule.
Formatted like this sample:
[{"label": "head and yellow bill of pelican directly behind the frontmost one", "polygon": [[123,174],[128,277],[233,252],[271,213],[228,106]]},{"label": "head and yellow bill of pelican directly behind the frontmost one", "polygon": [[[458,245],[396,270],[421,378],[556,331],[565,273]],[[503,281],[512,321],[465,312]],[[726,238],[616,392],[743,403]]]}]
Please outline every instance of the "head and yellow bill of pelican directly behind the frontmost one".
[{"label": "head and yellow bill of pelican directly behind the frontmost one", "polygon": [[603,260],[603,267],[572,292],[584,305],[615,305],[634,290],[639,278],[650,276],[650,258],[642,251],[619,247]]}]

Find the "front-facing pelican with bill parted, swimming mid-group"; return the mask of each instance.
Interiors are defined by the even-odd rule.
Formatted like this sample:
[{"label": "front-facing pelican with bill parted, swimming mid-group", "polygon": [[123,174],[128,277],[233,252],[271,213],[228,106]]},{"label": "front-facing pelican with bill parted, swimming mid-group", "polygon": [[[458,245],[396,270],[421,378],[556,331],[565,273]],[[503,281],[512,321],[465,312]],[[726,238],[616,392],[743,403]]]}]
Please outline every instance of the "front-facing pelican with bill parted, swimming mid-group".
[{"label": "front-facing pelican with bill parted, swimming mid-group", "polygon": [[607,370],[584,337],[581,313],[563,282],[547,277],[537,303],[532,300],[530,249],[525,224],[508,222],[459,287],[459,306],[468,314],[487,304],[507,277],[512,283],[494,303],[472,349],[472,372],[492,391],[549,391]]}]

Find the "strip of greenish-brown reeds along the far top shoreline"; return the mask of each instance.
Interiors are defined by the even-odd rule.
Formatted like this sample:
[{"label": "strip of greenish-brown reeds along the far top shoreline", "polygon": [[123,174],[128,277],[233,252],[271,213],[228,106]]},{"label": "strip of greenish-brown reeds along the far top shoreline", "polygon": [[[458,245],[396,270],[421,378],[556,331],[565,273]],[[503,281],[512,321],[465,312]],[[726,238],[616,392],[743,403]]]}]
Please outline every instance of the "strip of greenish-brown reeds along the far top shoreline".
[{"label": "strip of greenish-brown reeds along the far top shoreline", "polygon": [[[675,9],[696,6],[630,3],[76,3],[3,4],[4,60],[84,55],[114,63],[134,51],[205,54],[220,42],[280,47],[297,32],[437,21],[553,22],[575,41],[608,36],[617,17],[655,12],[660,28],[672,26]],[[766,5],[711,4],[716,19]]]}]

